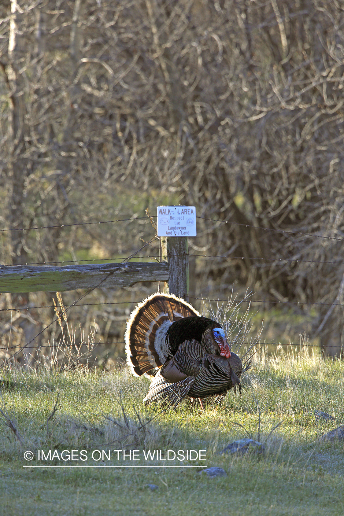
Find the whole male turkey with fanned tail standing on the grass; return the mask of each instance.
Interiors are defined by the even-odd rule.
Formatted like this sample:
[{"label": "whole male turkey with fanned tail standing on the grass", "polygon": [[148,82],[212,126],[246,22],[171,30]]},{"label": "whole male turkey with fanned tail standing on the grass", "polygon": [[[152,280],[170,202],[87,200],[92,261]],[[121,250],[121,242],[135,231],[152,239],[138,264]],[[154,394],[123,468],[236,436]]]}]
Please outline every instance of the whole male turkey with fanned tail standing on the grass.
[{"label": "whole male turkey with fanned tail standing on the grass", "polygon": [[221,401],[238,385],[242,363],[223,328],[183,299],[153,294],[131,313],[125,334],[132,374],[152,379],[144,399],[174,407],[186,396]]}]

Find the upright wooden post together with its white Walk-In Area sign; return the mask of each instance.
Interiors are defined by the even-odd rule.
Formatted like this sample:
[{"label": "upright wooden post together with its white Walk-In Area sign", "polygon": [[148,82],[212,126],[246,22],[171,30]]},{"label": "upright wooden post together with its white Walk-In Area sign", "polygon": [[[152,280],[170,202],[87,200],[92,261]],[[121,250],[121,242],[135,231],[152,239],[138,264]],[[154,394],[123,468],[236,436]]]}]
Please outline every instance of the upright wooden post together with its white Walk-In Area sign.
[{"label": "upright wooden post together with its white Walk-In Area sign", "polygon": [[189,301],[188,236],[196,236],[195,206],[158,206],[158,236],[169,278],[164,292]]}]

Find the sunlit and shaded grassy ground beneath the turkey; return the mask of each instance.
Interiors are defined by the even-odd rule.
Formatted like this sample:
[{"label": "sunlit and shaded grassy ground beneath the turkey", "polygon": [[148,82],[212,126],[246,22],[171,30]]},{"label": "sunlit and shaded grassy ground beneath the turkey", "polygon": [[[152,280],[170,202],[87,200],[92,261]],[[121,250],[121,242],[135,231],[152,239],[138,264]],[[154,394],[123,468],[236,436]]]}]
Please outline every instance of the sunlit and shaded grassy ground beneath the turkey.
[{"label": "sunlit and shaded grassy ground beneath the turkey", "polygon": [[[0,514],[344,513],[343,442],[319,439],[343,424],[342,362],[303,353],[260,355],[244,378],[242,395],[230,392],[221,408],[205,412],[189,405],[162,413],[144,408],[148,381],[127,368],[105,373],[40,367],[1,377],[9,382],[1,389],[1,409],[19,435],[0,416]],[[316,422],[314,410],[336,421]],[[248,433],[258,439],[258,428],[263,453],[221,454]],[[140,460],[123,462],[117,449],[139,450]],[[144,450],[161,450],[166,458],[168,449],[206,450],[207,460],[183,462],[202,467],[167,469],[180,461],[144,459]],[[32,461],[25,461],[26,450],[33,452]],[[42,460],[41,450],[57,450],[59,457],[62,450],[78,450],[79,461]],[[92,460],[94,450],[110,450],[111,460]],[[102,467],[33,467],[43,464]],[[159,467],[104,467],[132,464]],[[227,476],[208,478],[201,473],[205,466],[222,467]]]}]

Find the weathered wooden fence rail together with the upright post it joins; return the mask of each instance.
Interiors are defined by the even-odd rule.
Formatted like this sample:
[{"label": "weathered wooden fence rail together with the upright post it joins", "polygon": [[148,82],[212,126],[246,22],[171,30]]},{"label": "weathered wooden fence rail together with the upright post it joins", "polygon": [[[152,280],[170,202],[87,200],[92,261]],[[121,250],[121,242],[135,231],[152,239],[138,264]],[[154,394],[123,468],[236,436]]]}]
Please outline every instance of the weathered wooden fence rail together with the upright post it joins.
[{"label": "weathered wooden fence rail together with the upright post it joins", "polygon": [[162,262],[86,265],[0,265],[0,293],[64,292],[77,288],[129,286],[162,281],[164,291],[187,298],[189,261],[185,237],[165,238]]}]

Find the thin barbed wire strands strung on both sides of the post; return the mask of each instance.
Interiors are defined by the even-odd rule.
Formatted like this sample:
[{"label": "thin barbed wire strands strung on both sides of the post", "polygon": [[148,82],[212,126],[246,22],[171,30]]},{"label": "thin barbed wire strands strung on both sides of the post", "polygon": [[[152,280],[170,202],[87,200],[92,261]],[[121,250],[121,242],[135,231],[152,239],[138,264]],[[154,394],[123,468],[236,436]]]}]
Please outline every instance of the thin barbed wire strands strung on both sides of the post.
[{"label": "thin barbed wire strands strung on both sides of the post", "polygon": [[[211,218],[207,218],[207,217],[197,217],[198,219],[202,219],[204,221],[210,221],[212,223],[215,223],[216,225],[219,225],[219,224],[233,224],[233,225],[245,225],[246,227],[248,226],[247,224],[240,224],[240,223],[237,223],[237,222],[232,222],[232,221],[229,221],[229,220],[216,220],[216,219],[211,219]],[[146,219],[146,220],[151,220],[152,219],[152,216],[145,216],[145,217],[133,217],[133,218],[124,218],[124,219],[112,219],[112,220],[104,220],[104,221],[91,221],[91,222],[75,222],[73,224],[58,224],[58,225],[48,225],[48,226],[35,226],[35,227],[28,227],[28,228],[21,228],[21,231],[33,231],[33,230],[36,230],[36,231],[39,231],[41,229],[55,229],[55,228],[67,228],[67,227],[71,227],[71,226],[83,226],[83,225],[100,225],[100,224],[109,224],[109,223],[119,223],[119,222],[128,222],[128,221],[137,221],[137,220],[143,220],[143,219]],[[250,226],[252,228],[255,228],[257,229],[255,226]],[[261,230],[264,230],[264,231],[271,231],[271,232],[278,232],[278,233],[292,233],[292,234],[297,234],[297,235],[301,235],[301,236],[306,236],[306,237],[312,237],[312,238],[323,238],[323,239],[326,239],[326,240],[343,240],[344,238],[339,238],[339,237],[335,237],[335,236],[329,236],[329,235],[323,235],[323,234],[311,234],[311,233],[307,233],[307,232],[301,232],[301,231],[288,231],[288,230],[281,230],[281,229],[274,229],[274,228],[258,228],[258,229],[261,229]],[[10,231],[18,231],[18,228],[3,228],[0,230],[0,233],[3,233],[3,232],[10,232]],[[136,250],[135,252],[133,252],[131,255],[129,256],[126,256],[126,257],[113,257],[113,258],[108,258],[106,260],[104,259],[88,259],[88,260],[62,260],[62,261],[55,261],[55,262],[34,262],[34,263],[27,263],[26,265],[30,266],[30,265],[60,265],[60,266],[63,266],[63,265],[66,265],[66,264],[69,264],[69,263],[74,263],[74,264],[79,264],[79,263],[83,263],[83,262],[87,262],[87,263],[97,263],[97,262],[102,262],[102,263],[111,263],[111,262],[116,262],[116,261],[120,261],[121,263],[125,264],[125,263],[128,263],[129,261],[131,260],[136,260],[136,259],[154,259],[154,260],[157,260],[157,261],[160,261],[161,259],[161,253],[159,254],[143,254],[142,251],[144,249],[146,249],[147,247],[149,247],[153,242],[159,240],[159,238],[157,236],[154,236],[153,238],[151,238],[149,241],[147,241],[142,247],[140,247],[138,250]],[[271,257],[271,258],[267,258],[267,257],[262,257],[262,258],[259,258],[259,257],[251,257],[251,256],[235,256],[233,255],[230,250],[228,251],[228,254],[227,253],[224,253],[224,254],[221,254],[221,255],[210,255],[210,254],[202,254],[202,253],[189,253],[189,257],[199,257],[200,259],[205,259],[205,260],[226,260],[225,263],[228,263],[228,261],[230,260],[252,260],[252,261],[264,261],[266,262],[267,264],[271,264],[273,263],[274,265],[283,265],[283,266],[286,266],[286,265],[290,265],[290,264],[294,264],[294,263],[301,263],[301,262],[304,262],[304,263],[311,263],[311,264],[335,264],[335,265],[344,265],[344,262],[343,261],[340,261],[340,260],[332,260],[332,261],[329,261],[329,260],[324,260],[324,261],[321,261],[321,260],[303,260],[303,259],[298,259],[297,257],[291,257],[290,259],[286,259],[286,258],[279,258],[279,257]],[[58,303],[55,303],[54,301],[54,305],[37,305],[37,306],[33,306],[33,305],[29,305],[29,306],[26,306],[26,307],[10,307],[10,308],[1,308],[0,309],[0,313],[6,313],[6,312],[10,312],[11,314],[13,312],[17,312],[17,313],[25,313],[25,312],[30,312],[30,310],[37,310],[37,309],[52,309],[54,308],[55,310],[56,309],[61,309],[62,310],[62,313],[64,314],[64,316],[66,315],[67,312],[69,312],[73,307],[95,307],[97,305],[100,305],[100,306],[105,306],[105,305],[108,305],[108,306],[113,306],[113,305],[124,305],[124,304],[128,304],[128,301],[111,301],[111,302],[99,302],[99,303],[96,303],[96,302],[89,302],[89,303],[80,303],[80,301],[82,301],[85,297],[87,297],[93,290],[95,290],[96,288],[98,287],[101,287],[102,286],[102,283],[105,281],[106,278],[103,278],[95,287],[92,287],[92,288],[89,288],[86,290],[85,293],[83,293],[81,296],[79,296],[72,304],[67,304],[67,305],[63,305],[63,304],[58,304]],[[0,285],[1,285],[1,275],[0,275]],[[0,290],[1,290],[1,287],[0,287]],[[197,297],[197,296],[192,296],[190,295],[189,296],[192,300],[194,301],[205,301],[204,298],[202,297]],[[337,296],[338,298],[338,296]],[[336,302],[337,298],[335,299],[335,301],[333,303],[323,303],[323,302],[307,302],[307,301],[289,301],[289,300],[282,300],[282,299],[276,299],[274,300],[274,303],[275,304],[280,304],[280,305],[289,305],[291,307],[295,307],[295,306],[299,306],[299,307],[320,307],[320,306],[328,306],[330,307],[330,310],[333,308],[333,307],[336,307],[336,306],[343,306],[343,303],[342,302]],[[130,303],[132,305],[134,304],[137,304],[138,302],[142,301],[142,299],[135,299],[135,300],[131,300]],[[226,303],[228,301],[228,299],[213,299],[213,298],[209,298],[207,297],[206,301],[208,302],[223,302],[223,303]],[[254,294],[251,296],[251,304],[252,306],[259,306],[261,305],[261,303],[263,304],[266,304],[267,303],[267,300],[264,300],[264,299],[256,299],[254,297]],[[10,346],[10,345],[7,345],[7,346],[0,346],[0,351],[3,351],[5,352],[6,354],[6,358],[3,359],[3,365],[6,365],[8,364],[11,360],[15,359],[15,358],[18,358],[19,354],[23,352],[24,349],[53,349],[53,348],[68,348],[68,347],[73,347],[75,346],[75,344],[73,343],[58,343],[58,344],[51,344],[49,343],[48,345],[33,345],[33,342],[36,340],[36,338],[41,335],[42,333],[44,333],[48,328],[50,328],[56,321],[58,320],[58,317],[54,318],[49,325],[45,326],[40,332],[38,332],[33,338],[32,340],[26,342],[26,344],[24,344],[23,346],[20,346],[20,348],[18,349],[18,345],[15,345],[15,346]],[[4,333],[4,332],[3,332]],[[259,343],[260,347],[259,349],[262,349],[264,347],[267,347],[267,346],[299,346],[300,348],[303,348],[303,347],[306,347],[306,348],[320,348],[321,346],[318,345],[318,344],[309,344],[308,342],[305,342],[305,340],[303,339],[303,342],[301,342],[302,339],[300,339],[300,343],[296,344],[296,343],[286,343],[286,342],[264,342],[264,343]],[[100,341],[100,342],[97,342],[96,343],[97,345],[106,345],[106,346],[111,346],[113,344],[115,345],[120,345],[120,344],[124,344],[124,341],[116,341],[116,342],[108,342],[108,341]],[[249,345],[249,342],[243,342],[242,343],[243,345]],[[83,344],[81,344],[83,345]],[[12,350],[15,350],[13,353],[11,353]],[[258,350],[256,350],[257,352]],[[8,356],[9,355],[9,356]]]}]

